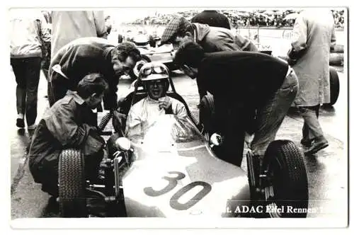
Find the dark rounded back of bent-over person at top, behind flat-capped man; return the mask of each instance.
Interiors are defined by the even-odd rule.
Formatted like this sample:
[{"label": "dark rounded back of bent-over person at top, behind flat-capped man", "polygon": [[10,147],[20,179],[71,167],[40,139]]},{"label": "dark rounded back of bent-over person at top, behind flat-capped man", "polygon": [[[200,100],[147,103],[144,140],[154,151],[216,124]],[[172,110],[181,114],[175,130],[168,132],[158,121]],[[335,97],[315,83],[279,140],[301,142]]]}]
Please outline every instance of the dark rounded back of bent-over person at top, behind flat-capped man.
[{"label": "dark rounded back of bent-over person at top, behind flat-capped man", "polygon": [[212,27],[231,29],[229,19],[215,10],[204,10],[193,16],[192,23],[203,23]]}]

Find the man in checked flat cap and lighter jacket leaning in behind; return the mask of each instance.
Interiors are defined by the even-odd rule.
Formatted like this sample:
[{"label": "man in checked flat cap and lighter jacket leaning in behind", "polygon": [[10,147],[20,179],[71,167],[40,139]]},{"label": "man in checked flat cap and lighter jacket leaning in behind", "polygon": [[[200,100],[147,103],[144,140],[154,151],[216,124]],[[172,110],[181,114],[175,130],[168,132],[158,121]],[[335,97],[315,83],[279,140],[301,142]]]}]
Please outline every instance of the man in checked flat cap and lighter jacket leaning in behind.
[{"label": "man in checked flat cap and lighter jacket leaning in behind", "polygon": [[[200,23],[190,23],[183,17],[176,16],[164,30],[161,36],[161,45],[172,43],[178,48],[181,42],[194,40],[202,46],[205,52],[219,52],[227,50],[257,51],[251,40],[243,38],[241,35],[233,35],[231,30],[226,28],[211,27]],[[205,88],[199,83],[197,78],[198,92],[200,99],[206,95]]]}]

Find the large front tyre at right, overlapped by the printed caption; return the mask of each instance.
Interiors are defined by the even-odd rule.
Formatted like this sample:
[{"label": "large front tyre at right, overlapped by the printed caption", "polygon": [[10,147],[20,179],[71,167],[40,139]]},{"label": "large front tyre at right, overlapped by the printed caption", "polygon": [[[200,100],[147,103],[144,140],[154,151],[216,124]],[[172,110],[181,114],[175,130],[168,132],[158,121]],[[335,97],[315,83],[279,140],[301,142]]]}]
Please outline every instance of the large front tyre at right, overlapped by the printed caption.
[{"label": "large front tyre at right, overlapped by the printed caption", "polygon": [[[307,171],[302,151],[294,142],[290,140],[271,142],[265,151],[262,172],[267,178],[264,185],[263,212],[269,217],[307,217],[309,204]],[[280,210],[275,210],[276,208]]]}]

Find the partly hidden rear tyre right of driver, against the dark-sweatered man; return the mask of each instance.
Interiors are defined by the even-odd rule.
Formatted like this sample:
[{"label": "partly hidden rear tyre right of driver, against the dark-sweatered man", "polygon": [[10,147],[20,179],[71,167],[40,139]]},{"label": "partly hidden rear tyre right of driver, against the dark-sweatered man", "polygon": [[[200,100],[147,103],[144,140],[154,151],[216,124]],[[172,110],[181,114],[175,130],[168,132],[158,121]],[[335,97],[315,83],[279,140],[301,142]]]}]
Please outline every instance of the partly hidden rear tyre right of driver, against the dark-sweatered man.
[{"label": "partly hidden rear tyre right of driver, against the dark-sweatered man", "polygon": [[202,134],[204,134],[207,141],[210,141],[210,135],[213,131],[213,121],[215,118],[215,105],[214,97],[212,94],[207,93],[206,96],[203,96],[200,101],[199,107],[199,121],[203,126]]}]

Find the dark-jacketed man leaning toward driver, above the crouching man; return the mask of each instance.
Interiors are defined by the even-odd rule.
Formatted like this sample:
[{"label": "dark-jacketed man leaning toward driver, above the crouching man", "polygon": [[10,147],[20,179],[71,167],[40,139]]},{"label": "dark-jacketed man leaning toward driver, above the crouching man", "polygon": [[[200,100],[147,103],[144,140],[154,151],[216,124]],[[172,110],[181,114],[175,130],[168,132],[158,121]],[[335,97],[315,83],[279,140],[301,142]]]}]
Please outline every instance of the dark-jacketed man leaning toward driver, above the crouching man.
[{"label": "dark-jacketed man leaning toward driver, above the crouching man", "polygon": [[50,106],[63,98],[68,90],[75,91],[86,74],[104,75],[109,91],[103,98],[105,110],[117,108],[120,76],[135,67],[141,55],[131,42],[111,45],[103,38],[79,38],[62,47],[52,58],[49,71],[48,99]]}]

